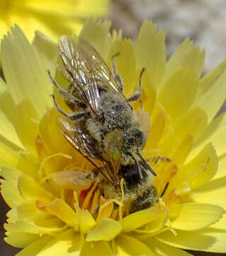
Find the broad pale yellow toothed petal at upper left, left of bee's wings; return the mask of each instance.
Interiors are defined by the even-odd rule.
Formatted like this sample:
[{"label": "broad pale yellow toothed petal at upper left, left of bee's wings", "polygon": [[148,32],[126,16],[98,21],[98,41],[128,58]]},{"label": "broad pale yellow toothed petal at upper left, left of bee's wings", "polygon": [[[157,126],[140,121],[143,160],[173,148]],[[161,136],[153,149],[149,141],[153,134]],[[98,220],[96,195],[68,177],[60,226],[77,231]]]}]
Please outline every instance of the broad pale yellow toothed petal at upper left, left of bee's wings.
[{"label": "broad pale yellow toothed petal at upper left, left of bee's wings", "polygon": [[52,84],[32,46],[18,26],[1,42],[1,60],[9,92],[16,104],[30,100],[41,116],[52,105]]}]

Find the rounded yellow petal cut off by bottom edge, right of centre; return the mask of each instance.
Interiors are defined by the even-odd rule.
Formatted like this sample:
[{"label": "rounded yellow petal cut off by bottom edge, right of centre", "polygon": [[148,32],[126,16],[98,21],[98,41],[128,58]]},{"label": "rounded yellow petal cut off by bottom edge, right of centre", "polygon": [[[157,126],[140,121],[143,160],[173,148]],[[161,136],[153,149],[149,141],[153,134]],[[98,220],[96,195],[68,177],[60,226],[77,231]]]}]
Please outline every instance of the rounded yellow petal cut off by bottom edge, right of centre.
[{"label": "rounded yellow petal cut off by bottom edge, right of centre", "polygon": [[118,256],[154,256],[147,245],[129,235],[119,235],[113,242]]}]

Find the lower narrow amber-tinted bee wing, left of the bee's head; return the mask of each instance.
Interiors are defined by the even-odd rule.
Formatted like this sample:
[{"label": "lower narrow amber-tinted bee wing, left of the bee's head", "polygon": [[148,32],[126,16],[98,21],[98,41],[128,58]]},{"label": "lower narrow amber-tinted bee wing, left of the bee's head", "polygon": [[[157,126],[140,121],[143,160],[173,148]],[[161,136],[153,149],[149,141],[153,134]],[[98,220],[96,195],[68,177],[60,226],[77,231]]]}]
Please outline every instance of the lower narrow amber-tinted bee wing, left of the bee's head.
[{"label": "lower narrow amber-tinted bee wing, left of the bee's head", "polygon": [[69,144],[71,144],[74,149],[77,149],[86,159],[91,161],[108,181],[115,184],[115,171],[113,170],[113,166],[110,162],[103,160],[101,152],[97,148],[96,141],[89,135],[84,121],[77,121],[76,125],[65,117],[60,117],[58,121],[60,130]]}]

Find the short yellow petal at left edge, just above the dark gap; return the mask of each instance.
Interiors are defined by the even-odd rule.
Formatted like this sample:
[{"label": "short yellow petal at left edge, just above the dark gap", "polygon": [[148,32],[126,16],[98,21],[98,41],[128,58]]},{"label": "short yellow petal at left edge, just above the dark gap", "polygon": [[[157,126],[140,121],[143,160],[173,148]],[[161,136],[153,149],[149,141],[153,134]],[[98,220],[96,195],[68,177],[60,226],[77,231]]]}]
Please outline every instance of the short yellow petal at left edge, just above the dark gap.
[{"label": "short yellow petal at left edge, just above the dark gap", "polygon": [[1,196],[8,206],[13,208],[24,203],[25,200],[21,197],[21,193],[18,191],[18,176],[21,175],[21,171],[4,166],[2,167],[0,174],[4,178],[1,179]]}]

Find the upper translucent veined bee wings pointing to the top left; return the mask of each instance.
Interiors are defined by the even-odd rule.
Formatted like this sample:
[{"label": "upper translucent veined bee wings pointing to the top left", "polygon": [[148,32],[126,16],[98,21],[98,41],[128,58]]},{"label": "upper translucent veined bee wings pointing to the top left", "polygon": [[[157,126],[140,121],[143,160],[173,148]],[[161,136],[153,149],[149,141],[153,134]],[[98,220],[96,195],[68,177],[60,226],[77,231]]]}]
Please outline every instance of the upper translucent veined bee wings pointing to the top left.
[{"label": "upper translucent veined bee wings pointing to the top left", "polygon": [[108,65],[86,40],[77,36],[61,36],[59,50],[64,77],[74,82],[74,89],[94,114],[101,110],[101,88],[125,99]]}]

